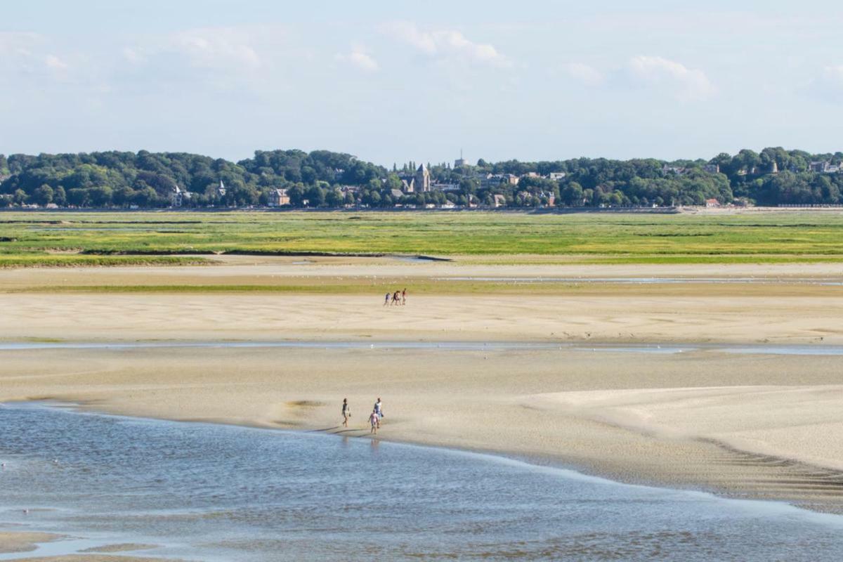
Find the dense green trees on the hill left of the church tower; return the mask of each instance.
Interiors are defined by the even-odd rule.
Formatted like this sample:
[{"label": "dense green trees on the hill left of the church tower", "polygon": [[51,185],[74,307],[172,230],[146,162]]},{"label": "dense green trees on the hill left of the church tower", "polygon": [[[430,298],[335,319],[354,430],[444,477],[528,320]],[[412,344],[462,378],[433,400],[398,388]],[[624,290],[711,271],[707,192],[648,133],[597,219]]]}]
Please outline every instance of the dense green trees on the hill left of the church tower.
[{"label": "dense green trees on the hill left of the church tower", "polygon": [[0,205],[162,207],[178,186],[191,192],[185,206],[255,206],[275,189],[380,184],[385,176],[380,166],[328,151],[258,151],[238,163],[147,151],[13,154],[0,155]]}]

